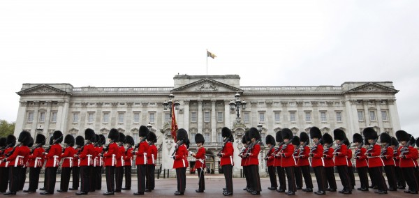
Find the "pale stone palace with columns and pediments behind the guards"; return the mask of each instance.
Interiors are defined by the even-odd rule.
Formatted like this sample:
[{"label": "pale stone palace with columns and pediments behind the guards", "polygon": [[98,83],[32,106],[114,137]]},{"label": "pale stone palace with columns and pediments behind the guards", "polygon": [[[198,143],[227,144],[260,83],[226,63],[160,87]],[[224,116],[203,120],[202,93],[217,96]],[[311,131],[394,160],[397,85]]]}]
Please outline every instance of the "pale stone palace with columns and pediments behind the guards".
[{"label": "pale stone palace with columns and pediments behind the guards", "polygon": [[[295,135],[317,126],[333,133],[341,128],[349,139],[355,132],[373,126],[378,133],[395,135],[400,129],[392,82],[344,82],[340,86],[240,86],[238,75],[175,75],[167,87],[73,87],[71,84],[23,84],[15,135],[27,130],[34,137],[42,132],[50,137],[54,130],[74,136],[86,128],[105,136],[117,128],[138,140],[140,125],[152,125],[159,137],[161,166],[172,168],[167,158],[174,149],[170,135],[170,109],[163,102],[172,93],[179,102],[175,110],[177,125],[189,132],[191,151],[194,135],[202,133],[209,158],[207,167],[218,172],[216,153],[222,146],[221,128],[227,126],[235,137],[235,175],[240,174],[241,138],[246,128],[262,125],[261,135],[273,135],[290,128]],[[240,108],[240,119],[230,101],[247,102]],[[265,139],[263,139],[265,141]],[[49,142],[49,141],[48,141]],[[265,156],[267,148],[261,152]],[[194,161],[191,159],[191,161]],[[265,160],[260,157],[260,172]],[[172,171],[170,174],[174,174]]]}]

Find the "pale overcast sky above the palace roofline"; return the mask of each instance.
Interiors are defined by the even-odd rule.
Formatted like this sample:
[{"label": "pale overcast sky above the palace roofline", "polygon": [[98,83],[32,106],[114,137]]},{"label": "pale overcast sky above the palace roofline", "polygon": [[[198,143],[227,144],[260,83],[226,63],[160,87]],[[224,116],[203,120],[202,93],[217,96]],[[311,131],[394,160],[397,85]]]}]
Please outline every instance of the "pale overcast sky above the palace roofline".
[{"label": "pale overcast sky above the palace roofline", "polygon": [[177,73],[242,86],[392,81],[419,135],[419,1],[1,1],[0,119],[23,83],[172,86]]}]

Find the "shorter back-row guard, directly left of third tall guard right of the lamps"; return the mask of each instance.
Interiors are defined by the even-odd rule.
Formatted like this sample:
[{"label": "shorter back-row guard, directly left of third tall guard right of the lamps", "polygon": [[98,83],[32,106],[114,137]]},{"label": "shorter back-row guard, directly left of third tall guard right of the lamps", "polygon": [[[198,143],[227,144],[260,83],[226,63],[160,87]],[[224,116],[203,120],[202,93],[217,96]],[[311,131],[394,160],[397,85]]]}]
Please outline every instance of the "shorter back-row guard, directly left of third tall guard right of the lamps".
[{"label": "shorter back-row guard, directly left of third tall guard right of the lamps", "polygon": [[313,181],[311,181],[310,175],[310,148],[307,146],[309,144],[309,135],[307,132],[300,133],[300,148],[297,155],[297,165],[300,167],[302,176],[304,177],[304,183],[306,188],[302,189],[304,192],[313,192]]}]

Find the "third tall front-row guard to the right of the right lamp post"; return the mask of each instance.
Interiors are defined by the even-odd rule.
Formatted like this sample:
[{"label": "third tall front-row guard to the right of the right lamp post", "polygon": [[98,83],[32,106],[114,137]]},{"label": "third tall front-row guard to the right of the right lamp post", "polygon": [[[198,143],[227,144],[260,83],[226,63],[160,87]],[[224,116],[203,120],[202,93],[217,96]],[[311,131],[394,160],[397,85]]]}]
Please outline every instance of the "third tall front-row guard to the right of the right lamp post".
[{"label": "third tall front-row guard to the right of the right lamp post", "polygon": [[[313,139],[314,142],[314,146],[310,148],[311,167],[313,167],[314,169],[314,174],[316,175],[316,181],[318,186],[318,191],[314,192],[314,194],[326,195],[326,179],[324,170],[325,163],[323,162],[323,141],[320,129],[318,129],[315,126],[310,128],[310,137],[311,139]],[[332,139],[332,137],[330,137],[330,139]]]}]

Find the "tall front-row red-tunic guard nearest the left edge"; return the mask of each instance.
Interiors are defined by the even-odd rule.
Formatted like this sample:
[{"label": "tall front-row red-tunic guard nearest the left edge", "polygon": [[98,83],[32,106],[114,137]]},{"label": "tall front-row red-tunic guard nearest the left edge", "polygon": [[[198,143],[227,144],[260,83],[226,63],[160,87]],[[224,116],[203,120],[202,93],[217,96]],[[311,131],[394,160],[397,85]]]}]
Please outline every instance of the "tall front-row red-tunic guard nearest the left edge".
[{"label": "tall front-row red-tunic guard nearest the left edge", "polygon": [[22,174],[22,167],[24,166],[24,158],[29,157],[29,150],[28,144],[31,140],[31,133],[27,131],[20,132],[19,138],[17,141],[19,144],[13,148],[12,151],[6,153],[2,161],[9,163],[9,191],[4,193],[3,195],[16,195],[17,190],[20,188],[20,174]]}]

